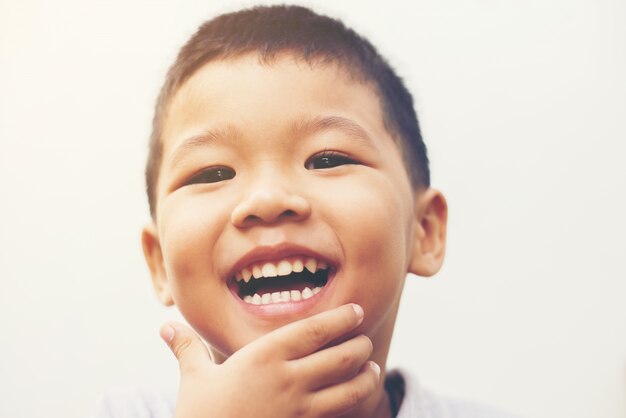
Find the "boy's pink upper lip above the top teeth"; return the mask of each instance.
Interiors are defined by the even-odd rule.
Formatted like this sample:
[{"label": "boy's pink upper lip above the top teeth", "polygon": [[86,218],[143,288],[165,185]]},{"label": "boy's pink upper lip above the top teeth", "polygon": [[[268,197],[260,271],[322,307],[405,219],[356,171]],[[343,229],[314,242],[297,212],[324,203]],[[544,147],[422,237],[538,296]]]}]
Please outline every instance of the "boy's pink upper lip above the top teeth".
[{"label": "boy's pink upper lip above the top teeth", "polygon": [[226,281],[229,282],[235,277],[235,274],[238,271],[243,270],[244,267],[247,267],[253,263],[258,263],[261,261],[279,261],[287,257],[298,256],[315,258],[316,260],[326,262],[329,266],[332,266],[333,270],[337,269],[336,261],[322,255],[318,251],[293,243],[282,243],[278,245],[259,246],[246,253],[229,270],[228,274],[226,275]]}]

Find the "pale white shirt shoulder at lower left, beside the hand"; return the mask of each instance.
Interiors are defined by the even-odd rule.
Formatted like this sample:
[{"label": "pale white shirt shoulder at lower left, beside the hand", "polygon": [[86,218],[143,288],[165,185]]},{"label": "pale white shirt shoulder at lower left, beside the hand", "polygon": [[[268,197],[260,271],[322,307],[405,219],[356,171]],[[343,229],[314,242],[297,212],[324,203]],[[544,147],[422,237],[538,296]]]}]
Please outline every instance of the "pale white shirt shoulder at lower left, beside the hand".
[{"label": "pale white shirt shoulder at lower left, beside the hand", "polygon": [[109,390],[97,402],[93,418],[172,418],[176,393],[156,387]]}]

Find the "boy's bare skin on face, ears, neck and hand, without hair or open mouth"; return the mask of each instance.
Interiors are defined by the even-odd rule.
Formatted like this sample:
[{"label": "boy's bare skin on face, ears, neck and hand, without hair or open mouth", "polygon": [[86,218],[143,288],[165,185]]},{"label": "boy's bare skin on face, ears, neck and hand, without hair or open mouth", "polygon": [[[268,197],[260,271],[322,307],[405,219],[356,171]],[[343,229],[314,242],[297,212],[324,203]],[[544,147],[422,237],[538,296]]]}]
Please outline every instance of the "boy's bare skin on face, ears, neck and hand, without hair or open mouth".
[{"label": "boy's bare skin on face, ears, neck and hand, without hair or open mouth", "polygon": [[[406,273],[439,270],[447,222],[443,195],[414,190],[402,161],[375,91],[339,66],[251,54],[181,86],[142,233],[161,301],[210,346],[162,329],[181,366],[177,416],[263,416],[233,396],[242,387],[265,416],[389,415],[372,363],[384,376]],[[227,179],[213,182],[218,167]],[[250,310],[229,281],[259,249],[267,261],[310,251],[334,277],[307,303]]]}]

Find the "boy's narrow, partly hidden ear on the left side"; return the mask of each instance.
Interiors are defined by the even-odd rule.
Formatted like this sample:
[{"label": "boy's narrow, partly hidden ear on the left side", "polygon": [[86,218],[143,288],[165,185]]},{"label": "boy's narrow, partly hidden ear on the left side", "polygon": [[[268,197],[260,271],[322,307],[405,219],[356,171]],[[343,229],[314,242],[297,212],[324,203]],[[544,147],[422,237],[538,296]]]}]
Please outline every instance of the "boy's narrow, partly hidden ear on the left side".
[{"label": "boy's narrow, partly hidden ear on the left side", "polygon": [[144,226],[141,231],[141,245],[146,263],[148,263],[150,275],[152,276],[152,285],[159,300],[165,306],[172,306],[174,299],[172,298],[172,291],[165,272],[159,233],[154,222]]}]

